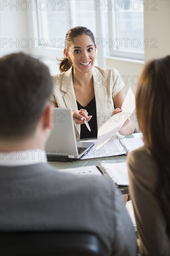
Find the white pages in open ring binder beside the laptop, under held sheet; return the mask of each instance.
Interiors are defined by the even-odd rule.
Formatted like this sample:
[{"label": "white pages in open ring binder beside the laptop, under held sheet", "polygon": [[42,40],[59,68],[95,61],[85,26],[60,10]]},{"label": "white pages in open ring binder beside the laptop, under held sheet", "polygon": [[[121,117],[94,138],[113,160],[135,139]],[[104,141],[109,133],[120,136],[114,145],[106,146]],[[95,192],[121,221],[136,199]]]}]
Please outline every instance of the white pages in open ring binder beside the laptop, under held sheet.
[{"label": "white pages in open ring binder beside the laptop, under held sheet", "polygon": [[112,156],[127,154],[129,151],[135,150],[144,145],[142,134],[140,135],[140,137],[129,139],[119,137],[111,138],[100,149],[97,149],[97,140],[88,140],[89,142],[94,142],[95,145],[81,158],[81,160],[95,158],[105,159],[105,157],[111,158]]}]

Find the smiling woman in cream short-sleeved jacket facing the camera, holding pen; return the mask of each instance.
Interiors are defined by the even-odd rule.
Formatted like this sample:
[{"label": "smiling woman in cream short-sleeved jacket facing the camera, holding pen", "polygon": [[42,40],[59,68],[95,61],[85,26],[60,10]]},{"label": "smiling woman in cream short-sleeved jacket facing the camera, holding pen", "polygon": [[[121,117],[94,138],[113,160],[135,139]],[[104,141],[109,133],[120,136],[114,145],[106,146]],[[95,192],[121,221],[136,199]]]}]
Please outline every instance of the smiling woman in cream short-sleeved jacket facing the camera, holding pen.
[{"label": "smiling woman in cream short-sleeved jacket facing the camera, holding pen", "polygon": [[[96,45],[90,29],[70,29],[65,36],[65,58],[59,65],[61,73],[53,76],[53,106],[72,108],[77,139],[97,137],[98,128],[111,115],[121,112],[125,97],[118,71],[94,67],[95,54]],[[91,132],[84,124],[84,117]],[[134,129],[134,122],[129,118],[120,133],[131,134]]]}]

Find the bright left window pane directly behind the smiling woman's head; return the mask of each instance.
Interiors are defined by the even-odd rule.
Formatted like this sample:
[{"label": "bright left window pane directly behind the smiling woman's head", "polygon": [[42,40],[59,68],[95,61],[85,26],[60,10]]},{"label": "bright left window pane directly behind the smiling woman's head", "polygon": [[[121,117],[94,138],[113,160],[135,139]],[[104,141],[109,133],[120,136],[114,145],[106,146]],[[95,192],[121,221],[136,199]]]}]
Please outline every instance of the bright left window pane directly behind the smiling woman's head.
[{"label": "bright left window pane directly behind the smiling woman's head", "polygon": [[[39,8],[39,3],[42,2],[45,1],[37,1],[39,37],[46,38],[50,47],[54,46],[54,39],[58,41],[65,38],[65,33],[76,26],[88,27],[96,36],[96,17],[92,0],[48,0],[44,11]],[[59,44],[56,46],[60,47]]]}]

